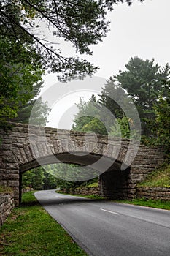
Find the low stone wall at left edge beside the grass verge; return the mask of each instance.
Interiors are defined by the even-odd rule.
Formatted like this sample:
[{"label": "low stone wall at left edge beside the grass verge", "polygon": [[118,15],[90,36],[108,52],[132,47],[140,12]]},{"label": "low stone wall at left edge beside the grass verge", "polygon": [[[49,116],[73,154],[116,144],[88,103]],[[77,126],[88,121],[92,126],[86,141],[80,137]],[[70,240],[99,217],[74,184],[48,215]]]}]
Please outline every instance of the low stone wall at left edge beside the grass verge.
[{"label": "low stone wall at left edge beside the grass verge", "polygon": [[14,206],[14,194],[0,195],[0,226],[4,224]]}]

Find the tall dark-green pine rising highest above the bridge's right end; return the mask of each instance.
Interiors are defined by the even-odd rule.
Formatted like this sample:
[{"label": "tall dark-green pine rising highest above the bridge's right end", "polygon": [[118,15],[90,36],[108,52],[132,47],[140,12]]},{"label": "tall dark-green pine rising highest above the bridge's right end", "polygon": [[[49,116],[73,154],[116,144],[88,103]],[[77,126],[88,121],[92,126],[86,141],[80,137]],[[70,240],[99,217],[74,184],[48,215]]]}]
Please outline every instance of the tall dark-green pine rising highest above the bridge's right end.
[{"label": "tall dark-green pine rising highest above the bridge's right end", "polygon": [[120,70],[114,78],[135,103],[142,121],[142,134],[150,135],[146,120],[155,118],[153,106],[160,94],[165,94],[163,83],[169,78],[169,64],[161,69],[161,66],[154,64],[154,59],[150,61],[134,57],[125,67],[126,70]]}]

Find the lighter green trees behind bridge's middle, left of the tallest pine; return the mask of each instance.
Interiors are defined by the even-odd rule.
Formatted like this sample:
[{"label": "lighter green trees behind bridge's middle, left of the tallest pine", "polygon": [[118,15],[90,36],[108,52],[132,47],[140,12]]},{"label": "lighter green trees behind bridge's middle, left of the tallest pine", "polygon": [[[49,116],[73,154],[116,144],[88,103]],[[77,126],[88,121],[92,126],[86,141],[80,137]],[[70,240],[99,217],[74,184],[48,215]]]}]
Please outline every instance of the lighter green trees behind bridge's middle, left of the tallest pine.
[{"label": "lighter green trees behind bridge's middle, left of the tallest pine", "polygon": [[75,115],[73,129],[102,135],[109,133],[123,138],[129,138],[131,132],[131,138],[136,138],[134,120],[126,117],[123,111],[130,104],[128,94],[110,78],[99,96],[98,101],[94,95],[88,102],[80,99],[80,104],[77,105],[79,113]]}]

